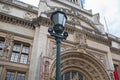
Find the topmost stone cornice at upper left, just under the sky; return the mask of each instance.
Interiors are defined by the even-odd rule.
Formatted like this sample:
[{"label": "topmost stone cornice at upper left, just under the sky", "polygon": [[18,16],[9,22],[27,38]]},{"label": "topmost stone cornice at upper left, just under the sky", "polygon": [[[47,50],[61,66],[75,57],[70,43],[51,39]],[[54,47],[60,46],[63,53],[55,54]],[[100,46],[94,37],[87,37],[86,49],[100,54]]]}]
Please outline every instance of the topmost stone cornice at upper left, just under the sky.
[{"label": "topmost stone cornice at upper left, just under the sky", "polygon": [[[35,13],[37,14],[38,11],[37,10],[34,10],[32,8],[29,8],[29,7],[24,7],[24,6],[20,6],[18,4],[15,4],[15,3],[12,3],[12,2],[8,2],[6,0],[0,0],[0,3],[4,3],[4,4],[8,4],[8,5],[11,5],[11,6],[14,6],[14,7],[17,7],[17,8],[20,8],[20,9],[23,9],[25,11],[29,11],[29,12],[32,12],[32,13]],[[29,6],[29,5],[28,5]]]}]

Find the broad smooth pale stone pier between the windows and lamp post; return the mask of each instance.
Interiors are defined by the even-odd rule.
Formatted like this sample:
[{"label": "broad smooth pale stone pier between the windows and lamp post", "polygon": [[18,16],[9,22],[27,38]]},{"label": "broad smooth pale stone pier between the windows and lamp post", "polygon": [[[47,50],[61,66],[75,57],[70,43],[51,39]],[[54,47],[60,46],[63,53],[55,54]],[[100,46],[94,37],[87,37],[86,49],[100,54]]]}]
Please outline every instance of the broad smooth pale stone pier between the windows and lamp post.
[{"label": "broad smooth pale stone pier between the windows and lamp post", "polygon": [[28,80],[37,80],[39,77],[38,68],[40,62],[40,55],[46,55],[47,50],[47,31],[48,27],[45,26],[35,28]]}]

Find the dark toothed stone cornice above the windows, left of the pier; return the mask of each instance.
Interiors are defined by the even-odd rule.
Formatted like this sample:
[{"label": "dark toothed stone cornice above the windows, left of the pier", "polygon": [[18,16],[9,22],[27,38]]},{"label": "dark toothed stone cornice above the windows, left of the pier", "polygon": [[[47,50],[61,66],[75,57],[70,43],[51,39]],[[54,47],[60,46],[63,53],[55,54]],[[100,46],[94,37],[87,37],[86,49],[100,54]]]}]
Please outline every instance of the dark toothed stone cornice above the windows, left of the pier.
[{"label": "dark toothed stone cornice above the windows, left of the pier", "polygon": [[10,24],[14,24],[14,25],[19,25],[19,26],[26,27],[26,28],[29,28],[29,29],[34,29],[32,21],[28,21],[28,20],[25,20],[25,19],[22,19],[22,18],[18,18],[18,17],[8,15],[8,14],[2,13],[2,12],[0,12],[0,21],[10,23]]}]

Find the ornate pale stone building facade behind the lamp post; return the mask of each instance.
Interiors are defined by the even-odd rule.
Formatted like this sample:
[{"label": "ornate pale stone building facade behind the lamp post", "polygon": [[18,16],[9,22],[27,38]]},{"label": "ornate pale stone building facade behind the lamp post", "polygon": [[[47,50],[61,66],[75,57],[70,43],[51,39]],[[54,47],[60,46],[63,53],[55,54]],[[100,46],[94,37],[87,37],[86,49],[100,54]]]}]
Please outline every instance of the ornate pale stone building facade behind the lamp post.
[{"label": "ornate pale stone building facade behind the lamp post", "polygon": [[57,10],[66,13],[69,34],[61,45],[62,80],[114,80],[115,70],[120,77],[120,38],[105,33],[99,14],[81,0],[40,0],[38,7],[0,0],[0,80],[55,80],[48,28]]}]

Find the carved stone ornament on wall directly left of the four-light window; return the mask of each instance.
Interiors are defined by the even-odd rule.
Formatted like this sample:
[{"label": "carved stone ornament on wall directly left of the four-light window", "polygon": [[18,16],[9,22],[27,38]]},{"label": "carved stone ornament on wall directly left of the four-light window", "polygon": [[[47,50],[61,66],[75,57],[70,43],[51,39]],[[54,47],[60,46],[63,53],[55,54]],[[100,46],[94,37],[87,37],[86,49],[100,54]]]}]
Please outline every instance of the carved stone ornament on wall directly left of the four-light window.
[{"label": "carved stone ornament on wall directly left of the four-light window", "polygon": [[3,47],[3,56],[7,57],[8,56],[8,51],[11,49],[12,42],[14,40],[14,35],[13,34],[7,34],[5,37],[5,43]]}]

